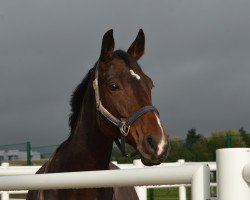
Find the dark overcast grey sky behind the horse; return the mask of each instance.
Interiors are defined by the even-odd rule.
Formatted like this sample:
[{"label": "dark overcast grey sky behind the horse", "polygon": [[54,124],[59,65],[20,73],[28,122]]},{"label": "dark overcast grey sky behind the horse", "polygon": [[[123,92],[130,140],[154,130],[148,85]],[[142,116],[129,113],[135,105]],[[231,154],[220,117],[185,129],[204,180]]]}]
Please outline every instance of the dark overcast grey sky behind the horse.
[{"label": "dark overcast grey sky behind the horse", "polygon": [[250,130],[250,1],[0,1],[0,144],[58,144],[69,99],[114,29],[140,63],[170,135]]}]

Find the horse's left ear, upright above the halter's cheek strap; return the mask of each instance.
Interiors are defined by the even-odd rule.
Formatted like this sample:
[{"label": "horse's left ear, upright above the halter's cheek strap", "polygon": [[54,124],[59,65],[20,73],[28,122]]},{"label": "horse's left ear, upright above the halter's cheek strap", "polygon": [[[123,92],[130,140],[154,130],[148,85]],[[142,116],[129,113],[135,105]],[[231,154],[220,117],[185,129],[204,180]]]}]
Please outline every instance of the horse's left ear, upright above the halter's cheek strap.
[{"label": "horse's left ear, upright above the halter's cheek strap", "polygon": [[109,60],[113,55],[114,48],[115,48],[115,41],[113,37],[113,29],[110,29],[104,34],[102,38],[102,49],[99,58],[100,61]]}]

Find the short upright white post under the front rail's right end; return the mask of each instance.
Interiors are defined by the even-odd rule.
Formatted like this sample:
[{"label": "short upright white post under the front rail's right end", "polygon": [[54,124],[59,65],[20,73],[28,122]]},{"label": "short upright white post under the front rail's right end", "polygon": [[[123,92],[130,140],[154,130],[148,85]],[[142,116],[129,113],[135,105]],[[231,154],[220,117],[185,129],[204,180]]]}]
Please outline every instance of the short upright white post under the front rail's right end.
[{"label": "short upright white post under the front rail's right end", "polygon": [[210,199],[210,170],[208,165],[202,165],[193,175],[191,180],[191,199]]}]

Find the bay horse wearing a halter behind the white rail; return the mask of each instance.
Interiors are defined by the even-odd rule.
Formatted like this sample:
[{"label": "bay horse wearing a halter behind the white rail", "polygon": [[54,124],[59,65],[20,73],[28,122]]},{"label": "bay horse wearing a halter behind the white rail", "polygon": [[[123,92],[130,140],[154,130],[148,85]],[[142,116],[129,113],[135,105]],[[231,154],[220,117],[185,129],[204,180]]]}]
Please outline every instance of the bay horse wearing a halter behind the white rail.
[{"label": "bay horse wearing a halter behind the white rail", "polygon": [[[37,172],[108,170],[113,141],[122,138],[144,165],[158,165],[169,144],[157,109],[152,106],[153,81],[138,60],[144,54],[140,29],[127,52],[114,50],[113,30],[102,39],[98,61],[71,98],[70,135]],[[100,177],[101,178],[101,177]],[[112,188],[29,191],[28,200],[111,200]],[[129,194],[125,199],[132,199]],[[122,199],[122,198],[119,198]]]}]

